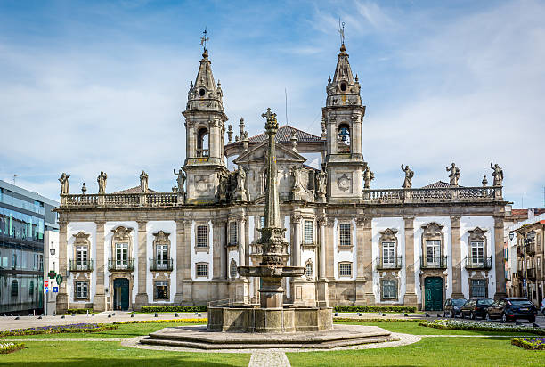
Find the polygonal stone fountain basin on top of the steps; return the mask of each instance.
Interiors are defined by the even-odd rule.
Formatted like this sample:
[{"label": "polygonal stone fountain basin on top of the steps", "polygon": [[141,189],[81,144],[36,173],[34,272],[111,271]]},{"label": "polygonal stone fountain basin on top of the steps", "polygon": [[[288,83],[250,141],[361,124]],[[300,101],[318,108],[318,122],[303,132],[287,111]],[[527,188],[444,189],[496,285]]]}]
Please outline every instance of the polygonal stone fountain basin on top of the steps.
[{"label": "polygonal stone fountain basin on top of the steps", "polygon": [[207,330],[280,333],[332,330],[331,307],[208,307]]}]

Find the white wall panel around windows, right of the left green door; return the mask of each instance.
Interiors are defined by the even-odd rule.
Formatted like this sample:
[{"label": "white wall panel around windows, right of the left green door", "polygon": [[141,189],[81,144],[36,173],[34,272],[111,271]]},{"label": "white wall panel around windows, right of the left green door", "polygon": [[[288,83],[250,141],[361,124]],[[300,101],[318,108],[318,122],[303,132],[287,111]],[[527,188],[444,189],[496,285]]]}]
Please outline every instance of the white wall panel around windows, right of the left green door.
[{"label": "white wall panel around windows, right of the left green door", "polygon": [[170,240],[170,257],[173,261],[173,270],[167,272],[170,274],[170,299],[155,301],[156,303],[169,303],[174,302],[174,297],[177,292],[177,282],[176,282],[176,223],[175,221],[152,221],[146,224],[146,249],[147,249],[147,259],[146,259],[146,293],[148,293],[148,302],[153,302],[153,273],[150,271],[150,257],[155,258],[156,254],[153,252],[153,241],[155,240],[154,233],[163,231],[170,233],[168,239]]}]

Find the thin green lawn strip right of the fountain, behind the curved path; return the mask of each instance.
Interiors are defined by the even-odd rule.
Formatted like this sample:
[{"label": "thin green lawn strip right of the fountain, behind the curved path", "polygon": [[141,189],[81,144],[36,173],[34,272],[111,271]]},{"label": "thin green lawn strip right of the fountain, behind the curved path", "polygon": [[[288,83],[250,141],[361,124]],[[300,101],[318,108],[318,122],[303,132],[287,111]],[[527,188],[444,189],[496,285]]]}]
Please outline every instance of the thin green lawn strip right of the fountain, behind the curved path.
[{"label": "thin green lawn strip right of the fountain, behind the curved path", "polygon": [[532,335],[528,332],[506,332],[506,331],[476,331],[476,330],[448,330],[427,328],[419,326],[419,322],[335,322],[336,324],[347,325],[368,325],[392,331],[403,332],[413,335]]}]

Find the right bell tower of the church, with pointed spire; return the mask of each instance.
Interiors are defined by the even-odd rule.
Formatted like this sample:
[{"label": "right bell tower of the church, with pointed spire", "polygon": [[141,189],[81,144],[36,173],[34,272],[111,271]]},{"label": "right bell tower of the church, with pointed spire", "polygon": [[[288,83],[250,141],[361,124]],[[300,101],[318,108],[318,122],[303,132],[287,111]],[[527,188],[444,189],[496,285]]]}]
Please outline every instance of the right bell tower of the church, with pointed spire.
[{"label": "right bell tower of the church, with pointed spire", "polygon": [[[341,32],[341,30],[339,30]],[[341,47],[333,80],[326,87],[326,106],[321,109],[326,127],[325,165],[328,172],[330,202],[362,200],[362,105],[360,83],[348,62],[348,53],[341,32]]]}]

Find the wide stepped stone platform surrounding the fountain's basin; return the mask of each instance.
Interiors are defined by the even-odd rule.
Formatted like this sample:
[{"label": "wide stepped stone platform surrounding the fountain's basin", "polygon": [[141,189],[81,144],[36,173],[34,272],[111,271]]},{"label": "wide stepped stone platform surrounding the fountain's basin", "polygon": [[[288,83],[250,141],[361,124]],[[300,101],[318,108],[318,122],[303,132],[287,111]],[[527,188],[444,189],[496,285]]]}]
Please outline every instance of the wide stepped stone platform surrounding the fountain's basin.
[{"label": "wide stepped stone platform surrounding the fountain's basin", "polygon": [[334,330],[261,334],[214,332],[198,327],[165,328],[150,334],[142,344],[194,349],[269,349],[356,346],[395,340],[389,331],[374,326],[336,325]]}]

